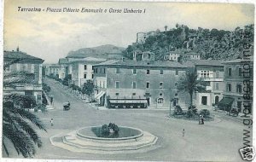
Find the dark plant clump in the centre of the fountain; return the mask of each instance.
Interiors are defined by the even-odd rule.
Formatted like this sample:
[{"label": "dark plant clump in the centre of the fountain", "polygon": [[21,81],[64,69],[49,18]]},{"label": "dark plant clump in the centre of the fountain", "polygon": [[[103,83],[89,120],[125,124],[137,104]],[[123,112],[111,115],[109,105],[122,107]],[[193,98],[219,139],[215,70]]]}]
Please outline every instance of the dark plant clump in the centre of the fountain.
[{"label": "dark plant clump in the centre of the fountain", "polygon": [[101,137],[116,138],[119,136],[119,127],[117,124],[103,124],[101,129]]}]

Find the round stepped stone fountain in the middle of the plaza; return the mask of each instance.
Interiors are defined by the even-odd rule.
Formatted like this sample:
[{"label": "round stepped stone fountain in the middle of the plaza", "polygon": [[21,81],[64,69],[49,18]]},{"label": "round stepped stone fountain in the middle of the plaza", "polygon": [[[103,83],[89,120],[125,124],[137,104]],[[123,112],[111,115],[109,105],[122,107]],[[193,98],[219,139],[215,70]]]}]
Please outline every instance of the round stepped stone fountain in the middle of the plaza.
[{"label": "round stepped stone fountain in the middle of the plaza", "polygon": [[[104,125],[103,125],[104,126]],[[119,126],[118,131],[102,125],[84,127],[79,130],[50,137],[50,142],[59,148],[79,153],[144,153],[158,148],[157,137],[137,128]]]}]

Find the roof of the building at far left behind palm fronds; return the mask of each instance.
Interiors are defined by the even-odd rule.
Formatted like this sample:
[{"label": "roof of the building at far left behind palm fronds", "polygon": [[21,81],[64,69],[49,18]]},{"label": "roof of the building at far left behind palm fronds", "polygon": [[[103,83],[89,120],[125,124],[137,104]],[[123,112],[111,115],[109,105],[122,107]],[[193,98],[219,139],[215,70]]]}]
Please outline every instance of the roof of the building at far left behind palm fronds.
[{"label": "roof of the building at far left behind palm fronds", "polygon": [[44,60],[38,57],[27,55],[25,52],[21,51],[3,51],[3,59],[4,60],[15,60],[21,59],[20,63],[25,63],[27,61],[33,61],[38,63],[43,63]]}]

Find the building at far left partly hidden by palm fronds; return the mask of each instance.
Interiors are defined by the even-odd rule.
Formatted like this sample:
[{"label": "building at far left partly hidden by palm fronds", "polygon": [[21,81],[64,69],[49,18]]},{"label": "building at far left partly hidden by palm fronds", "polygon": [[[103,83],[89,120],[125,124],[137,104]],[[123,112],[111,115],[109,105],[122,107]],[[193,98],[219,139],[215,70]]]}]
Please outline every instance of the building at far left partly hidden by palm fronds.
[{"label": "building at far left partly hidden by palm fronds", "polygon": [[34,74],[33,84],[18,84],[14,87],[3,87],[3,94],[17,93],[21,95],[31,96],[37,101],[42,103],[42,63],[44,60],[27,55],[25,52],[21,52],[19,48],[16,51],[4,51],[3,62],[4,64],[20,60],[7,67],[4,73],[9,72],[30,72]]}]

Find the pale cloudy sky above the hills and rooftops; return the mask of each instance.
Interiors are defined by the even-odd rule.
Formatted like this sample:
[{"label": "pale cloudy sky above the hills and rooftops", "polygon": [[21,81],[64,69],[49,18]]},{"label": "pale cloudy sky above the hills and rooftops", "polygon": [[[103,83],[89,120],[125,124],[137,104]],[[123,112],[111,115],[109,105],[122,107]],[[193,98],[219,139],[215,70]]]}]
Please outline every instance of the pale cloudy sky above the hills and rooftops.
[{"label": "pale cloudy sky above the hills and rooftops", "polygon": [[[41,12],[21,12],[18,7],[40,8]],[[107,9],[107,13],[46,12],[47,8]],[[122,12],[109,13],[109,9]],[[124,9],[145,9],[145,13],[127,14]],[[253,4],[6,0],[3,48],[15,50],[19,46],[45,63],[57,63],[71,50],[104,44],[126,48],[136,42],[137,32],[164,31],[164,26],[167,30],[183,24],[195,29],[200,26],[233,31],[253,23]]]}]

